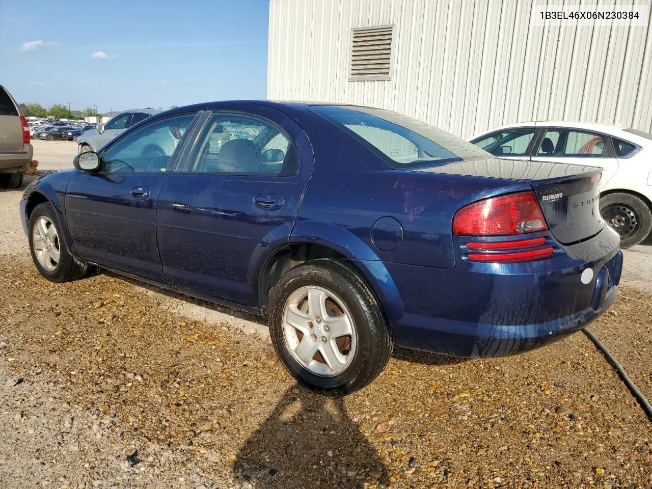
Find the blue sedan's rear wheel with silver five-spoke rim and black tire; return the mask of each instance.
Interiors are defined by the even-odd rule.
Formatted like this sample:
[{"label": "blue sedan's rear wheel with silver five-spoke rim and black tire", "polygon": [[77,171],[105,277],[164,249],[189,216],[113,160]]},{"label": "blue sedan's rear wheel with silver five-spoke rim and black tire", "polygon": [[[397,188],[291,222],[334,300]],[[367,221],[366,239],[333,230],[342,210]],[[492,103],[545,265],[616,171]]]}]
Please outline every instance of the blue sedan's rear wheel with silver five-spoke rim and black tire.
[{"label": "blue sedan's rear wheel with silver five-spoke rim and black tire", "polygon": [[385,368],[393,338],[376,298],[349,265],[303,263],[274,286],[272,342],[290,374],[321,392],[351,393]]}]

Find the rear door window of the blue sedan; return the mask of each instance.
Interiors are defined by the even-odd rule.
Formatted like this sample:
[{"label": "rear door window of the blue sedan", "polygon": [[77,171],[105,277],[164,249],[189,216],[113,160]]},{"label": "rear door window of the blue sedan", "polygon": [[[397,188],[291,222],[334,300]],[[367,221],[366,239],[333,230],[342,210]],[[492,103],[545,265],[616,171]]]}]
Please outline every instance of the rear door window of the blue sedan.
[{"label": "rear door window of the blue sedan", "polygon": [[288,136],[253,115],[216,112],[190,156],[188,171],[233,175],[295,175],[299,158]]}]

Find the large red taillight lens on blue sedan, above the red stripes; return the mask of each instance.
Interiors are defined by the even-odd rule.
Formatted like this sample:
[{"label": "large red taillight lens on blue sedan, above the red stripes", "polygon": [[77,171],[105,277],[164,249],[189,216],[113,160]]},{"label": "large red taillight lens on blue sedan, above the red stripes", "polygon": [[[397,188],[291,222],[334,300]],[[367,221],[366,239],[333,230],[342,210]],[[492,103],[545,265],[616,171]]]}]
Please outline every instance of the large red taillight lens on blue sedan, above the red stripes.
[{"label": "large red taillight lens on blue sedan, above the red stripes", "polygon": [[548,229],[534,192],[491,197],[462,207],[452,232],[464,236],[509,236]]}]

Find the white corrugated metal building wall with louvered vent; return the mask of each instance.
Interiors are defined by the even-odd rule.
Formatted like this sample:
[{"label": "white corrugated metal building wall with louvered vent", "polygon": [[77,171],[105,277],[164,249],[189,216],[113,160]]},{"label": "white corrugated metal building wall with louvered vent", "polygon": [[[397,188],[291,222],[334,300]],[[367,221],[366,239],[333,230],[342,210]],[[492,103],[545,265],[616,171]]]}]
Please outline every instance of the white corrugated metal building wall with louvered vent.
[{"label": "white corrugated metal building wall with louvered vent", "polygon": [[386,108],[464,138],[535,120],[652,132],[652,20],[550,27],[535,5],[271,0],[267,97]]}]

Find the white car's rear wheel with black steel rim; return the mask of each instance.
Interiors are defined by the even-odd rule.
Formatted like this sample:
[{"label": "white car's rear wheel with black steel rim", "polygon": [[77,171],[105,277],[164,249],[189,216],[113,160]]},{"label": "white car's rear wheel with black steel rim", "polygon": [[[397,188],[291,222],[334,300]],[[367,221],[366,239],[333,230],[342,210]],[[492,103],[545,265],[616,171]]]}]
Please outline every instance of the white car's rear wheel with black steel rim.
[{"label": "white car's rear wheel with black steel rim", "polygon": [[600,197],[600,214],[620,235],[620,247],[641,243],[652,231],[652,211],[632,194],[616,192]]}]

